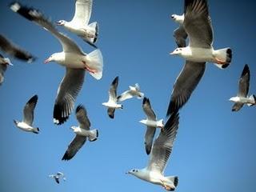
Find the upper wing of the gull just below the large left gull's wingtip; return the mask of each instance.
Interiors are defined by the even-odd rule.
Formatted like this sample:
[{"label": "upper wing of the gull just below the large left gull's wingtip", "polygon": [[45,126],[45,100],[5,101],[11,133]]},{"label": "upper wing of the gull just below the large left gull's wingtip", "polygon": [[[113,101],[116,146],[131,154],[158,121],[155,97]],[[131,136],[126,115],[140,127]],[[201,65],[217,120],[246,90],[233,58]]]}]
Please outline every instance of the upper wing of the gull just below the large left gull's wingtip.
[{"label": "upper wing of the gull just below the large left gull's wingtip", "polygon": [[85,130],[90,130],[90,120],[87,117],[86,108],[82,105],[79,105],[75,113],[76,113],[80,128]]}]

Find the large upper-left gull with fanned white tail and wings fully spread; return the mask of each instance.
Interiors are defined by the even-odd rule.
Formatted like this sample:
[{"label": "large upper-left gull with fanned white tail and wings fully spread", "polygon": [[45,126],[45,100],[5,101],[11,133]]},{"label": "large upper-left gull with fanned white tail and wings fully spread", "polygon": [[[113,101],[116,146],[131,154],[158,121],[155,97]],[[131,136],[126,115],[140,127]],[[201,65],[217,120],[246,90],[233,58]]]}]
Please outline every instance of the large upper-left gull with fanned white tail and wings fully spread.
[{"label": "large upper-left gull with fanned white tail and wings fully spread", "polygon": [[62,44],[62,52],[52,54],[45,61],[45,63],[57,62],[61,66],[66,66],[66,74],[58,87],[54,104],[54,123],[61,125],[66,122],[74,109],[74,102],[82,89],[86,70],[97,80],[102,78],[102,53],[100,50],[94,50],[90,54],[84,53],[73,40],[59,33],[38,10],[22,6],[18,2],[12,3],[10,9],[48,30]]}]

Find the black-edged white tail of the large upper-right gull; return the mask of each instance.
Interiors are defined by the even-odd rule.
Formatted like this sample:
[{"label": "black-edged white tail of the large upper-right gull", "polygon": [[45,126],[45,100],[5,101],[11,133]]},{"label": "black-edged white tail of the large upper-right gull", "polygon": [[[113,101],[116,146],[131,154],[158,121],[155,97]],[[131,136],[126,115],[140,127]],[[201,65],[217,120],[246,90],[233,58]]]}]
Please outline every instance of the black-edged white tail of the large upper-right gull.
[{"label": "black-edged white tail of the large upper-right gull", "polygon": [[[219,62],[223,62],[224,64],[215,64],[221,69],[225,69],[227,66],[230,65],[232,60],[232,50],[230,48],[224,48],[221,50],[214,50],[214,56],[218,59]],[[216,61],[216,62],[218,62]]]}]

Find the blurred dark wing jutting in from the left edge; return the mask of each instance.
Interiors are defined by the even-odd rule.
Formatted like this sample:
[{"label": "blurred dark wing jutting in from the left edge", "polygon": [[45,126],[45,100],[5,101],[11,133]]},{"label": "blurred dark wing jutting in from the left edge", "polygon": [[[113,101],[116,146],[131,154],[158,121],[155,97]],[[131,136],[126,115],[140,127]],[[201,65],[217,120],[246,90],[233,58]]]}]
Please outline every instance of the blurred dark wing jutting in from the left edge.
[{"label": "blurred dark wing jutting in from the left edge", "polygon": [[0,34],[0,49],[11,57],[22,60],[23,62],[34,62],[36,59],[32,54],[14,45],[9,39]]}]

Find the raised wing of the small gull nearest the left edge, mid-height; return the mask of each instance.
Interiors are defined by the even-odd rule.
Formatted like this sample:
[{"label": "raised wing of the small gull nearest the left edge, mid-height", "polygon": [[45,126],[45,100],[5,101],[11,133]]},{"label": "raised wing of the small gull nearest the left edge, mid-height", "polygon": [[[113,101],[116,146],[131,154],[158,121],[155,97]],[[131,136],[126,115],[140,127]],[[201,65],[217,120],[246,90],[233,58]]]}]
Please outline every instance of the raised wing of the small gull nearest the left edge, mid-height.
[{"label": "raised wing of the small gull nearest the left edge, mid-height", "polygon": [[34,108],[38,102],[38,95],[34,95],[28,102],[26,102],[26,106],[23,109],[23,122],[32,126],[34,121]]}]

